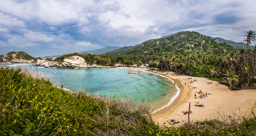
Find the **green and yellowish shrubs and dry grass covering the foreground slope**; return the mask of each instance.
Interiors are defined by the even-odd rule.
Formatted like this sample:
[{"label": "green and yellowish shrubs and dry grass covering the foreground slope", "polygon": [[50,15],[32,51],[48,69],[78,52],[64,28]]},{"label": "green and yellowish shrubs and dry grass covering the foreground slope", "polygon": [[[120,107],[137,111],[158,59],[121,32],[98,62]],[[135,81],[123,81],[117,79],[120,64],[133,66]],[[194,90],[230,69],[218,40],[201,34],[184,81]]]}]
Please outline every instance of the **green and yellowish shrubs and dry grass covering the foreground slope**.
[{"label": "green and yellowish shrubs and dry grass covering the foreground slope", "polygon": [[[255,135],[256,117],[156,125],[146,105],[53,87],[20,69],[0,68],[0,135]],[[26,71],[26,70],[25,70]],[[167,122],[166,122],[167,123]]]}]

